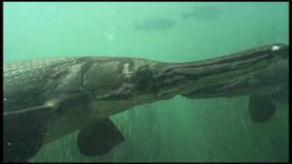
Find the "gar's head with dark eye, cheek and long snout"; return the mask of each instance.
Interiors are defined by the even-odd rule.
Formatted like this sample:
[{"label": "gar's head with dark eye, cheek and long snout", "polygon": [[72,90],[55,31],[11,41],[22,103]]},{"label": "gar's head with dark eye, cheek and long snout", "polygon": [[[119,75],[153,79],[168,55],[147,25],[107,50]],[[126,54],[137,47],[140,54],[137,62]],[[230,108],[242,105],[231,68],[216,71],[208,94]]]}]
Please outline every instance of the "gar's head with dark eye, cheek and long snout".
[{"label": "gar's head with dark eye, cheek and long snout", "polygon": [[[287,86],[288,46],[260,46],[203,61],[166,63],[110,59],[89,67],[83,85],[115,114],[136,105],[170,99],[274,94]],[[110,110],[109,110],[110,111]]]}]

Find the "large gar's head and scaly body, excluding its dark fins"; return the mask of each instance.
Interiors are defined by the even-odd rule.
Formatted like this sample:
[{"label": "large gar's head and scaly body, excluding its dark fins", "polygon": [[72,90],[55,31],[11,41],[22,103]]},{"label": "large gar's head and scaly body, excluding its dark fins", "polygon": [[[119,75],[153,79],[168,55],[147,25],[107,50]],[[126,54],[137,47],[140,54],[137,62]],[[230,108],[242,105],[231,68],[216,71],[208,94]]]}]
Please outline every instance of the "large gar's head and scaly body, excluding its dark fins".
[{"label": "large gar's head and scaly body, excluding its dark fins", "polygon": [[176,95],[276,95],[285,85],[287,46],[278,44],[190,63],[127,57],[39,59],[4,66],[4,112],[49,107],[46,144],[99,119]]}]

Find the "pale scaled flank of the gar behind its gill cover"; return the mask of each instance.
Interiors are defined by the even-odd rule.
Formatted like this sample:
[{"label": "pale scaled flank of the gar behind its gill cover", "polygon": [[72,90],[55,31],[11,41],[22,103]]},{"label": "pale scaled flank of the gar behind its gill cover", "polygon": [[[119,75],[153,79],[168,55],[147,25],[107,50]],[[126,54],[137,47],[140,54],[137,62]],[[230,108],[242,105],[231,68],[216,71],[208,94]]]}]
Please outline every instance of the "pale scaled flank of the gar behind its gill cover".
[{"label": "pale scaled flank of the gar behind its gill cover", "polygon": [[[4,109],[30,107],[42,92],[44,82],[60,68],[74,63],[73,58],[49,58],[4,65]],[[23,97],[23,95],[26,97]],[[21,103],[22,102],[22,103]]]}]

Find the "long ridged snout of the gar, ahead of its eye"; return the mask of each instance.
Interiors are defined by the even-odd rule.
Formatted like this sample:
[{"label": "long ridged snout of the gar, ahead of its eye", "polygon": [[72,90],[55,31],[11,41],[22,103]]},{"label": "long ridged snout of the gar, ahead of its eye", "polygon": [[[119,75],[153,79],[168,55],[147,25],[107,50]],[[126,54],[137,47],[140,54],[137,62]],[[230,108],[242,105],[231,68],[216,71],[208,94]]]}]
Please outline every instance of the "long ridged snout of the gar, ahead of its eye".
[{"label": "long ridged snout of the gar, ahead of its eye", "polygon": [[[282,83],[279,63],[287,61],[288,46],[272,44],[189,63],[164,65],[154,76],[159,97],[235,97],[266,94]],[[276,70],[276,71],[275,71]]]}]

